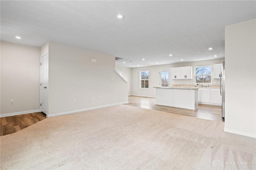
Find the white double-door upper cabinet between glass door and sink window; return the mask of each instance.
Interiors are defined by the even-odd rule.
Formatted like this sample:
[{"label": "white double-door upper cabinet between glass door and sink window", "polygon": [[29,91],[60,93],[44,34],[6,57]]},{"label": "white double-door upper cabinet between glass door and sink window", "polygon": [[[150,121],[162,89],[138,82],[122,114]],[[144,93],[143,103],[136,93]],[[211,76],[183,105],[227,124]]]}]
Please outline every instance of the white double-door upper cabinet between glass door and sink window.
[{"label": "white double-door upper cabinet between glass door and sink window", "polygon": [[172,79],[192,79],[192,66],[171,68]]}]

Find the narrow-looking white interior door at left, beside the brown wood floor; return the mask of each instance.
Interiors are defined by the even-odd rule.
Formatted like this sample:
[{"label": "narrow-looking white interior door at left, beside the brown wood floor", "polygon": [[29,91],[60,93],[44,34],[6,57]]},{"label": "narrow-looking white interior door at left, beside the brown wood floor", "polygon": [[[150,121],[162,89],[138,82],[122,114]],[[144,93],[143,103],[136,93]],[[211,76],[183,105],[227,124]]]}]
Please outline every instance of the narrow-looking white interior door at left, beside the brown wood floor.
[{"label": "narrow-looking white interior door at left, beside the brown wood floor", "polygon": [[47,98],[46,98],[46,85],[47,85],[47,53],[41,56],[41,78],[40,78],[40,109],[41,112],[46,114]]}]

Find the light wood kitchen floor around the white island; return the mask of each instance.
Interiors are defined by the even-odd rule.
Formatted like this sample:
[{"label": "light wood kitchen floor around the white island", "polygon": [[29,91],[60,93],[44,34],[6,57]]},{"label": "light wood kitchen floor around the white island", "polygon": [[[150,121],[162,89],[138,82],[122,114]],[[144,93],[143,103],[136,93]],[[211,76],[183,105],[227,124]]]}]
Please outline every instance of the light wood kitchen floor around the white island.
[{"label": "light wood kitchen floor around the white island", "polygon": [[221,116],[221,111],[222,111],[221,106],[198,104],[198,108],[196,110],[190,110],[190,109],[181,109],[177,107],[156,105],[156,99],[150,98],[150,97],[129,96],[128,101],[129,103],[125,105],[136,106],[136,107],[141,107],[145,109],[153,109],[158,111],[165,111],[169,113],[176,113],[179,115],[197,117],[197,118],[208,119],[212,121],[224,122]]}]

